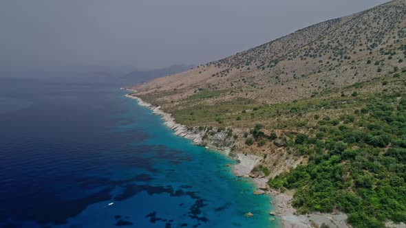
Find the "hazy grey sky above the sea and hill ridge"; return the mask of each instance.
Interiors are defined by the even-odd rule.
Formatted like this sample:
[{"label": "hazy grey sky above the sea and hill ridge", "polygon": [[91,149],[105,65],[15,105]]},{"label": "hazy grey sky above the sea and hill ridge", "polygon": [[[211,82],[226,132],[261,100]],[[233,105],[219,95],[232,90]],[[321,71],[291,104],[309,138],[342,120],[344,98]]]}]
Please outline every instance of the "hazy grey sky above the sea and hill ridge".
[{"label": "hazy grey sky above the sea and hill ridge", "polygon": [[0,68],[200,64],[385,0],[1,0]]}]

